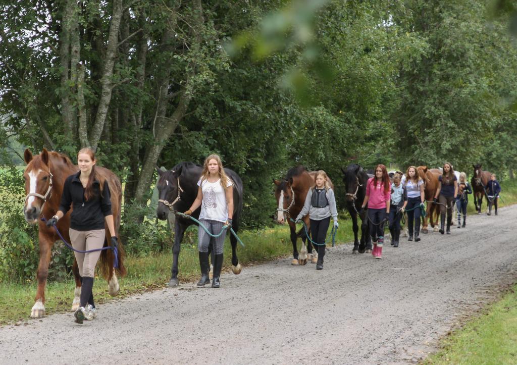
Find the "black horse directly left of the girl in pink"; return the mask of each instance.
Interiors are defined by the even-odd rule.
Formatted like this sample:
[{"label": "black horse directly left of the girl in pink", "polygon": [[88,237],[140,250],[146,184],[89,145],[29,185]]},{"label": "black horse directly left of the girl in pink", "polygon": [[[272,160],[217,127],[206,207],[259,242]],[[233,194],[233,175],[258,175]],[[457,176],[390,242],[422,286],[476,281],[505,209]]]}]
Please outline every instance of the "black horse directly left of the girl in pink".
[{"label": "black horse directly left of the girl in pink", "polygon": [[[372,177],[367,174],[364,169],[357,163],[348,165],[346,170],[341,169],[344,174],[343,182],[346,191],[346,209],[352,217],[352,230],[354,231],[354,249],[352,253],[372,252],[372,238],[368,227],[368,219],[366,210],[359,214],[364,196],[366,195],[366,184],[368,179]],[[359,226],[357,225],[357,216],[361,218],[361,242],[357,239]]]}]

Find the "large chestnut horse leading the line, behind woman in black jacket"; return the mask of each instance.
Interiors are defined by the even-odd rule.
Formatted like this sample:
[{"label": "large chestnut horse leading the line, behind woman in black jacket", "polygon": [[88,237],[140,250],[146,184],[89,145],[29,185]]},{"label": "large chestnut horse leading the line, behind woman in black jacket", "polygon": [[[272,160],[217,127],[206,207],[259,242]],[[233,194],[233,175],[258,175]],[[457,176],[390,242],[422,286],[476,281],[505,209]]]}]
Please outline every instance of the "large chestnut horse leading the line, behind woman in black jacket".
[{"label": "large chestnut horse leading the line, behind woman in black jacket", "polygon": [[[25,203],[23,212],[25,220],[29,224],[39,225],[38,240],[39,240],[39,266],[37,271],[38,290],[34,306],[31,310],[32,318],[40,318],[45,313],[45,285],[47,284],[47,276],[49,273],[49,262],[52,253],[52,246],[54,242],[59,240],[54,227],[47,227],[40,219],[44,217],[50,219],[56,214],[63,193],[63,185],[65,179],[71,174],[79,171],[78,166],[72,164],[70,159],[57,152],[49,152],[43,148],[40,155],[33,156],[31,151],[25,150],[25,163],[27,167],[23,173],[25,179]],[[111,193],[111,209],[113,211],[115,231],[120,227],[120,207],[122,201],[122,186],[120,180],[110,170],[96,166],[98,174],[108,181]],[[70,229],[70,209],[67,214],[59,219],[57,222],[57,229],[63,237],[70,242],[68,230]],[[110,240],[108,227],[106,226],[106,238],[104,246],[108,245]],[[118,295],[119,286],[118,280],[113,268],[114,254],[111,250],[103,250],[100,255],[100,268],[102,275],[108,281],[108,292],[110,295]],[[118,246],[118,268],[116,269],[119,275],[124,276],[126,269],[124,267],[124,248],[119,240]],[[81,295],[81,276],[74,260],[72,265],[72,272],[75,277],[75,291],[72,302],[72,311],[79,308],[79,298]]]}]

